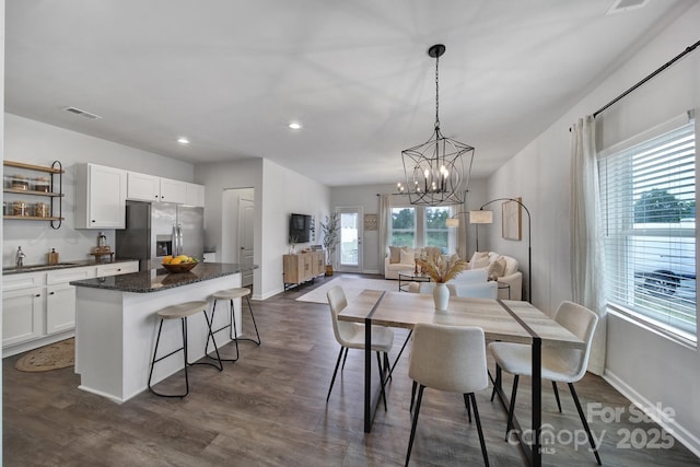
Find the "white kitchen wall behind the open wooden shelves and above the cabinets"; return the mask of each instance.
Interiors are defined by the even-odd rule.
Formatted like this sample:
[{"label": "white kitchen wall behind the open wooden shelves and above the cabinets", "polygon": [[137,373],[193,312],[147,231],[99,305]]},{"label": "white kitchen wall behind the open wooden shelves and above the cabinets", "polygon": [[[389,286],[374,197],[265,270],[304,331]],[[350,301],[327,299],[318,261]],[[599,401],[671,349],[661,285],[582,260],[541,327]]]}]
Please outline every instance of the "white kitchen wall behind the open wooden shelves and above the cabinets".
[{"label": "white kitchen wall behind the open wooden shelves and above the cabinets", "polygon": [[[90,252],[97,245],[97,231],[74,229],[74,166],[92,162],[167,178],[192,182],[192,164],[176,161],[151,152],[141,151],[98,138],[69,131],[51,125],[4,114],[4,159],[36,165],[50,166],[60,161],[63,175],[63,221],[58,230],[48,221],[3,222],[2,265],[12,266],[18,246],[26,254],[25,264],[46,262],[51,249],[61,260],[94,259]],[[3,167],[5,175],[18,172]],[[10,197],[7,197],[8,199]],[[114,247],[114,230],[105,230],[109,245]]]}]

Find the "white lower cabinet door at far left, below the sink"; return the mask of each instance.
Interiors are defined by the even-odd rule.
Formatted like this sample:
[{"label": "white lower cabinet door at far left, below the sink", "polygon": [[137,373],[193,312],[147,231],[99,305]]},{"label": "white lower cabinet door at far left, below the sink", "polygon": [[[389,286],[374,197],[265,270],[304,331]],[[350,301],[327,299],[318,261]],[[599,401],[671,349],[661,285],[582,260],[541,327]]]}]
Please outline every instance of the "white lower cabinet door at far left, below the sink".
[{"label": "white lower cabinet door at far left, below the sink", "polygon": [[2,293],[2,347],[26,342],[44,335],[45,288]]}]

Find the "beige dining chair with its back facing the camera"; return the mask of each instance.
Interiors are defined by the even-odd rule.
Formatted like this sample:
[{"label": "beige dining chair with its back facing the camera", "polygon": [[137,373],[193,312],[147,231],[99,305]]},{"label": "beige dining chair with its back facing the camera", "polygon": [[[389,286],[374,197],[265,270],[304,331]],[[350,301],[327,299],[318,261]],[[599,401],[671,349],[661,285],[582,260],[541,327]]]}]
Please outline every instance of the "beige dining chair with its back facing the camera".
[{"label": "beige dining chair with its back facing the camera", "polygon": [[[411,457],[418,415],[423,399],[423,390],[430,387],[447,393],[458,393],[464,397],[467,413],[474,408],[474,418],[479,432],[479,443],[483,462],[489,465],[481,420],[474,393],[489,385],[486,364],[486,341],[483,329],[472,326],[445,326],[417,324],[413,328],[413,345],[408,366],[408,376],[413,380],[413,394],[419,385],[418,401],[413,408],[411,435],[406,453],[406,465]],[[471,421],[469,413],[469,421]]]}]

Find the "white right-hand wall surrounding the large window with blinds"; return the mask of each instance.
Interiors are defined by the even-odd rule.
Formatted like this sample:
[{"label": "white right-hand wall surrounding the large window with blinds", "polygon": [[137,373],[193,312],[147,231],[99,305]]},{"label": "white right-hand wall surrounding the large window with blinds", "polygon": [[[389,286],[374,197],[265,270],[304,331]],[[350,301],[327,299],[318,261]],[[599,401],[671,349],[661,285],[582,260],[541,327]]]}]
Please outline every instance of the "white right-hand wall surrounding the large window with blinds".
[{"label": "white right-hand wall surrounding the large window with blinds", "polygon": [[[489,199],[520,196],[532,212],[534,303],[539,308],[552,312],[562,300],[571,299],[569,127],[696,43],[698,24],[700,4],[652,38],[488,180]],[[602,114],[605,132],[598,137],[604,144],[625,139],[689,107],[700,107],[700,50]],[[509,252],[522,264],[526,233],[523,242],[504,241],[500,215],[494,220],[497,223],[479,231],[491,229],[489,249]],[[660,404],[673,409],[669,425],[700,455],[700,353],[696,349],[608,315],[605,377],[643,407]]]}]

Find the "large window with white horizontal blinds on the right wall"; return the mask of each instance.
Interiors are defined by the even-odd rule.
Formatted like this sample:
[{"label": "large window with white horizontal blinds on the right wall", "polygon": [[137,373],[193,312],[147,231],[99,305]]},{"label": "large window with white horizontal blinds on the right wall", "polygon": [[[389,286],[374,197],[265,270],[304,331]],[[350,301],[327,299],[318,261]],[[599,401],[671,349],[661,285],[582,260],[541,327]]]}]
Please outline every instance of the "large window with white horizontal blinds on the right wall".
[{"label": "large window with white horizontal blinds on the right wall", "polygon": [[608,304],[696,340],[695,121],[598,159]]}]

